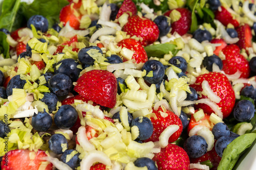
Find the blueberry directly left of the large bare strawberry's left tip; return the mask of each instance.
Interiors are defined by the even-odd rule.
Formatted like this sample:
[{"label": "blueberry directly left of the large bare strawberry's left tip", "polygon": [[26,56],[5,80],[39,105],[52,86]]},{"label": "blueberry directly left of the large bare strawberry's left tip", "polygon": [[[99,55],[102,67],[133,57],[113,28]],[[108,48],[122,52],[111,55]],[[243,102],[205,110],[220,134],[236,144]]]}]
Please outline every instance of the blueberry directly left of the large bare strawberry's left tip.
[{"label": "blueberry directly left of the large bare strawberry's left tip", "polygon": [[67,95],[72,88],[72,80],[64,74],[57,74],[49,80],[49,89],[57,96]]}]

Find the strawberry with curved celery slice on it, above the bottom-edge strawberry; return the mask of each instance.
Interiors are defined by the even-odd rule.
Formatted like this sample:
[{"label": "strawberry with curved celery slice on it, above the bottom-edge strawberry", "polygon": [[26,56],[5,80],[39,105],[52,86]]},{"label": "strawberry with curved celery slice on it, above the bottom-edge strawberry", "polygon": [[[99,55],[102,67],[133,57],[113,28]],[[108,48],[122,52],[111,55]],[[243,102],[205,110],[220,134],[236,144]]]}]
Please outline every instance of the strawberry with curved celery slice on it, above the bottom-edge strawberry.
[{"label": "strawberry with curved celery slice on it, above the bottom-edge strawberry", "polygon": [[[159,141],[159,136],[161,135],[161,133],[170,125],[178,125],[180,127],[178,131],[176,131],[172,136],[169,137],[169,143],[176,141],[180,137],[183,129],[181,119],[169,110],[163,111],[162,107],[158,107],[157,110],[154,110],[153,108],[153,113],[155,113],[157,117],[156,119],[154,117],[151,117],[151,122],[154,127],[153,134],[150,138],[146,139],[145,142]],[[163,115],[163,113],[167,115]]]}]

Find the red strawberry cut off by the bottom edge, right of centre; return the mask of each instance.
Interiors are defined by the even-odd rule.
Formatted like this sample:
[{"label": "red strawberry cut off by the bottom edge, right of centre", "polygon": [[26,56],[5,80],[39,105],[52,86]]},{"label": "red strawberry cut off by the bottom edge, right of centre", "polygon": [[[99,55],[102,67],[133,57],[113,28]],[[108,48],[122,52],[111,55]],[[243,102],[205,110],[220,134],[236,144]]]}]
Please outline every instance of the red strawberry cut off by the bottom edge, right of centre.
[{"label": "red strawberry cut off by the bottom edge, right of centre", "polygon": [[171,143],[161,148],[161,152],[155,154],[153,160],[157,163],[158,169],[164,170],[188,170],[190,165],[186,151]]}]

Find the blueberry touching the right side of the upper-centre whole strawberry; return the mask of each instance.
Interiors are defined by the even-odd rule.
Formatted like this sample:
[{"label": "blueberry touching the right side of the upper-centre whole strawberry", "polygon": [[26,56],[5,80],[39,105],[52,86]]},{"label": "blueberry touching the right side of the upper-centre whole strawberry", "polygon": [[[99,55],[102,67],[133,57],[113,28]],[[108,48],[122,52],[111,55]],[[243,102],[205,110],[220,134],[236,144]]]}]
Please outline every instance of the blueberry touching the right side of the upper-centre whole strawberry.
[{"label": "blueberry touching the right side of the upper-centre whole strawberry", "polygon": [[156,23],[158,29],[159,29],[159,36],[165,36],[170,32],[170,28],[172,27],[170,25],[170,19],[167,18],[164,15],[159,15],[154,19],[154,22]]}]

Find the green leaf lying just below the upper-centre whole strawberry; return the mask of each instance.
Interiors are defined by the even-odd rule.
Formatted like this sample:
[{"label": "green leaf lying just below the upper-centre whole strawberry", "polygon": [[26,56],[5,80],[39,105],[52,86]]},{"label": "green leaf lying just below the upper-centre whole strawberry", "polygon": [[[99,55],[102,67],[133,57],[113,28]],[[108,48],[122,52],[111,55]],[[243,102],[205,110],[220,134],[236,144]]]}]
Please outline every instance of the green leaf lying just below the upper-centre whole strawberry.
[{"label": "green leaf lying just below the upper-centre whole strawberry", "polygon": [[169,52],[172,52],[173,55],[175,55],[178,52],[178,50],[176,50],[175,48],[176,48],[176,45],[169,44],[169,43],[149,45],[144,47],[148,58],[150,57],[162,58],[165,54],[169,54]]}]

